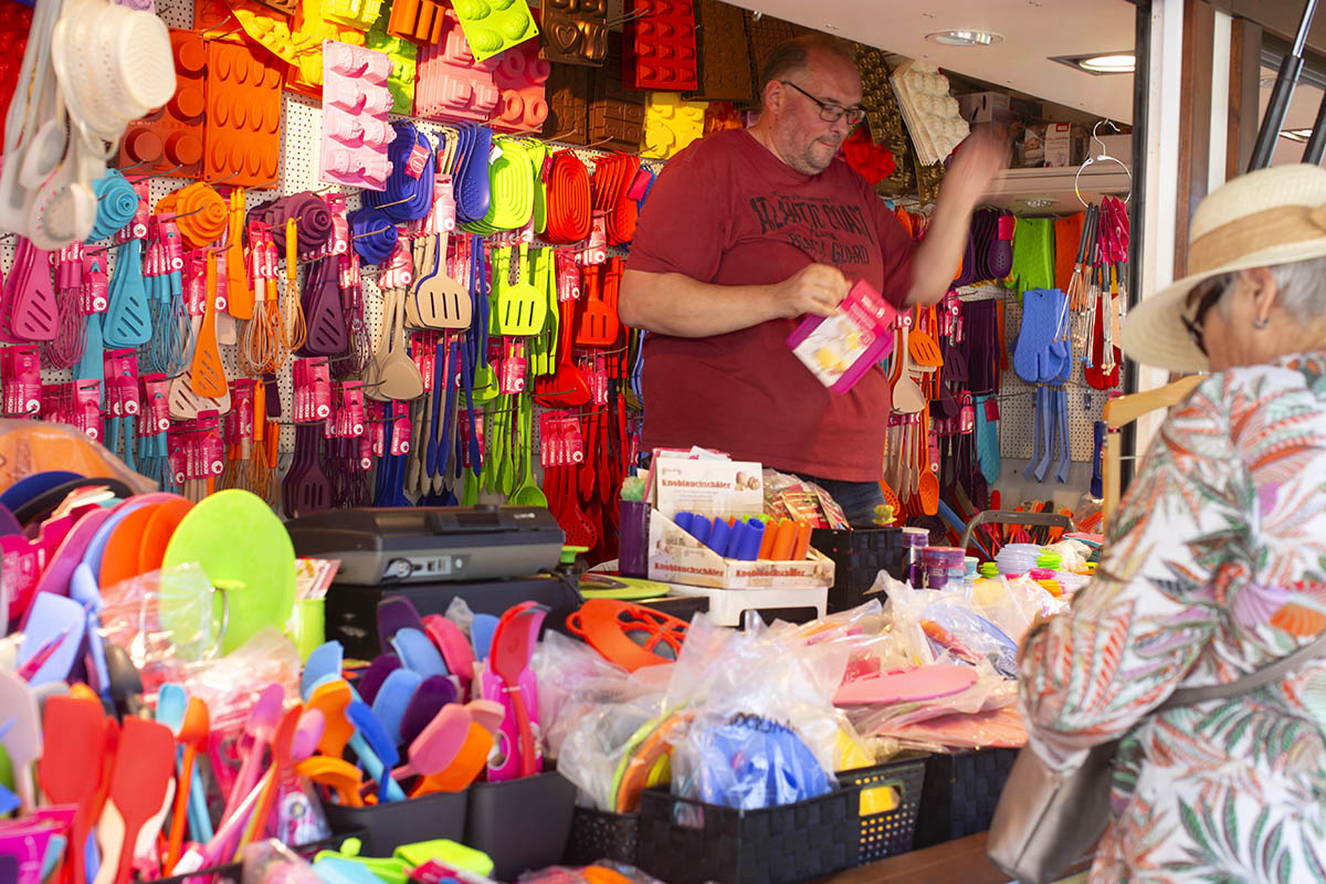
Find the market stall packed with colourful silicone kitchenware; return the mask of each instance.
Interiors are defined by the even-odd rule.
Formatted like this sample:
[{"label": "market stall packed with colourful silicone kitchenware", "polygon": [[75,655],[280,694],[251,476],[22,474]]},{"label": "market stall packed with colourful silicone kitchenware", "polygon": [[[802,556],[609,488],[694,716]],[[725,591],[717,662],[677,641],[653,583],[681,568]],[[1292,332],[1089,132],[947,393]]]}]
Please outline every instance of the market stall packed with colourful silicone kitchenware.
[{"label": "market stall packed with colourful silicone kitchenware", "polygon": [[857,281],[780,339],[825,395],[887,379],[851,527],[777,464],[647,447],[660,335],[619,311],[666,163],[809,28],[0,23],[4,881],[798,881],[989,826],[1017,645],[1101,545],[1126,125],[849,44],[842,159],[907,248],[972,126],[1017,167],[940,302]]}]

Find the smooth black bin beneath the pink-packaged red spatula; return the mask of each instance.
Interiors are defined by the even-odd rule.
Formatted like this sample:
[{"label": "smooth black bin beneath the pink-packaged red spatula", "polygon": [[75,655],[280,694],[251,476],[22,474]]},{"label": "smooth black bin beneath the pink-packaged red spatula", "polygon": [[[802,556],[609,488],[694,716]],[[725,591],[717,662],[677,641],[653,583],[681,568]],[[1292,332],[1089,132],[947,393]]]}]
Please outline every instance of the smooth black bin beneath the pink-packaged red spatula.
[{"label": "smooth black bin beneath the pink-packaged red spatula", "polygon": [[464,843],[493,859],[492,877],[513,881],[566,852],[575,786],[558,773],[469,787]]}]

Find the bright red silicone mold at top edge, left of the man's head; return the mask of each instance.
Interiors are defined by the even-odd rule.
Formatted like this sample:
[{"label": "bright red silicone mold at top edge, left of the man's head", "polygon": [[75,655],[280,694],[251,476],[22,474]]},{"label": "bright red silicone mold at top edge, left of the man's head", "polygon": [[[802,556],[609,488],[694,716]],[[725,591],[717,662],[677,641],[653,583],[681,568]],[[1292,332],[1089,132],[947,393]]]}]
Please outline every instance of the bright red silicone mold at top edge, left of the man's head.
[{"label": "bright red silicone mold at top edge, left of the man's head", "polygon": [[[631,17],[640,12],[646,15]],[[674,91],[699,87],[691,0],[627,0],[625,34],[626,86]]]}]

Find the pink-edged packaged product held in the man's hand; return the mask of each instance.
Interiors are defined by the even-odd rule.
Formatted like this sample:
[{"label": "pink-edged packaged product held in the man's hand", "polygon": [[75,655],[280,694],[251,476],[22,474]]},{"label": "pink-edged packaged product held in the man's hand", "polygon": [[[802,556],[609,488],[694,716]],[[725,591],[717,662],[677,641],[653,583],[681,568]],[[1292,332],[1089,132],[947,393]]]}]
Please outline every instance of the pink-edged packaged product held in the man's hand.
[{"label": "pink-edged packaged product held in the man's hand", "polygon": [[819,383],[839,396],[894,347],[890,326],[898,310],[865,280],[847,292],[831,317],[808,317],[788,346]]}]

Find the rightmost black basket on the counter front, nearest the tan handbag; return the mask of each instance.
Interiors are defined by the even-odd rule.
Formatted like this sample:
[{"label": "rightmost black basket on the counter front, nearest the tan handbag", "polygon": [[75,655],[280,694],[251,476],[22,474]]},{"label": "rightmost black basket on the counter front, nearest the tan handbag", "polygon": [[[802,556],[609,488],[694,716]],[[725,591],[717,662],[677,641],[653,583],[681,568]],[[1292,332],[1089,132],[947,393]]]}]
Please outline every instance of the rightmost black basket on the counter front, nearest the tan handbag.
[{"label": "rightmost black basket on the counter front, nearest the tan handbag", "polygon": [[1016,759],[1017,749],[930,755],[916,820],[916,848],[988,830]]}]

